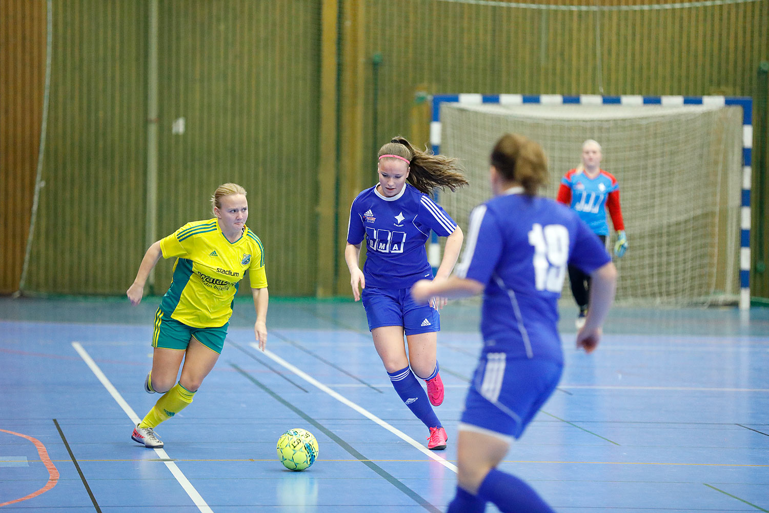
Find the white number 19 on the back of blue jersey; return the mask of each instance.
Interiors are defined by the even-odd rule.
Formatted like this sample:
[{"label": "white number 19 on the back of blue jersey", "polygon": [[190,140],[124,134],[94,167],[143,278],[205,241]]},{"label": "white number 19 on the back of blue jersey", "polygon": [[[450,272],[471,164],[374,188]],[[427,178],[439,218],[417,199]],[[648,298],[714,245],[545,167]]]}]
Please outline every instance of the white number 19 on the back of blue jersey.
[{"label": "white number 19 on the back of blue jersey", "polygon": [[528,233],[534,246],[534,281],[537,290],[560,292],[566,278],[569,257],[569,231],[564,225],[534,223]]}]

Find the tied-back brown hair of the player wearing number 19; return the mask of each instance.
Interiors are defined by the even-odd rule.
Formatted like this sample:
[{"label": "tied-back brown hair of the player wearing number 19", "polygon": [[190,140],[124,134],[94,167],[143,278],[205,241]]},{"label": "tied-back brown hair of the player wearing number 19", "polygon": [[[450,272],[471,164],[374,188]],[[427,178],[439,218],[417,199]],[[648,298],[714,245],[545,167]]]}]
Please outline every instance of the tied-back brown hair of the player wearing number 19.
[{"label": "tied-back brown hair of the player wearing number 19", "polygon": [[548,183],[548,158],[538,143],[519,134],[505,134],[491,150],[491,165],[505,180],[521,184],[528,195]]}]

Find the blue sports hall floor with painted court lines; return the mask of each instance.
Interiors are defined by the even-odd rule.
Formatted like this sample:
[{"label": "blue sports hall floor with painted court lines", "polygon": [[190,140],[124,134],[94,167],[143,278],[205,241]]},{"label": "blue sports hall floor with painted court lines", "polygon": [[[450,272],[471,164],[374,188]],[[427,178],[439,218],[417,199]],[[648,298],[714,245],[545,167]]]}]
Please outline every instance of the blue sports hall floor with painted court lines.
[{"label": "blue sports hall floor with painted court lines", "polygon": [[[392,389],[361,305],[340,300],[273,299],[266,353],[238,301],[195,401],[157,428],[165,448],[136,444],[158,398],[142,386],[157,305],[0,298],[0,511],[445,510],[477,304],[441,311],[439,452]],[[503,470],[568,513],[769,511],[769,308],[614,308],[584,355],[561,306],[561,385]],[[277,459],[290,428],[318,439],[306,471]]]}]

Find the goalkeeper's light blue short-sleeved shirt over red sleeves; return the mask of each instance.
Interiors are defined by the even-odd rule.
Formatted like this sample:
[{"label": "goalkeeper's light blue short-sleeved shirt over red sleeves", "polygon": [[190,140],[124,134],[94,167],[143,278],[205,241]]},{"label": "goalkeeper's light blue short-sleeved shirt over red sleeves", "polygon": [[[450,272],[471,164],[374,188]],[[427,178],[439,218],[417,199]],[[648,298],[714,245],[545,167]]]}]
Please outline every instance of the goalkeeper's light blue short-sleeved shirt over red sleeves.
[{"label": "goalkeeper's light blue short-sleeved shirt over red sleeves", "polygon": [[578,212],[582,221],[588,223],[594,233],[608,235],[606,199],[611,192],[619,190],[617,178],[603,169],[595,178],[571,169],[561,178],[561,184],[571,189],[571,208]]}]

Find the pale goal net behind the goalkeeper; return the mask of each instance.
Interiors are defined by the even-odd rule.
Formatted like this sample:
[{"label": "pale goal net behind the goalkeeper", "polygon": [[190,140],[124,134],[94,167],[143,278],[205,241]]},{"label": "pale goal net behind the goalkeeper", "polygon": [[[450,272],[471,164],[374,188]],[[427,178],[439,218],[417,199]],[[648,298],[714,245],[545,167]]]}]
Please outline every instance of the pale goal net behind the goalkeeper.
[{"label": "pale goal net behind the goalkeeper", "polygon": [[[620,187],[630,248],[616,259],[617,299],[633,305],[712,305],[739,297],[742,112],[685,105],[441,105],[441,153],[461,159],[470,186],[441,194],[467,230],[491,197],[488,155],[505,132],[539,142],[554,198],[581,162],[585,139],[603,148],[601,168]],[[614,230],[608,220],[614,245]],[[564,295],[568,290],[568,280]]]}]

